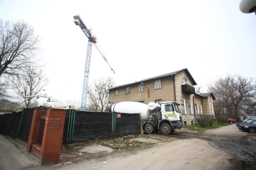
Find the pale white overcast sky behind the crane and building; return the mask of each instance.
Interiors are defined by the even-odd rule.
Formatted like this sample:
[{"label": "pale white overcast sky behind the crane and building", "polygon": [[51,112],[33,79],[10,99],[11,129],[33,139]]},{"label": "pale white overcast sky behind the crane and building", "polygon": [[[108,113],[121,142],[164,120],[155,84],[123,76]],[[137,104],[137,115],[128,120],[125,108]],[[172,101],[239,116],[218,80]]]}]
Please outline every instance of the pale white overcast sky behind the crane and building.
[{"label": "pale white overcast sky behind the crane and building", "polygon": [[256,16],[240,0],[1,0],[3,20],[23,19],[40,37],[45,93],[81,101],[88,39],[73,16],[93,28],[113,74],[93,46],[89,83],[116,85],[187,68],[198,86],[227,73],[255,78]]}]

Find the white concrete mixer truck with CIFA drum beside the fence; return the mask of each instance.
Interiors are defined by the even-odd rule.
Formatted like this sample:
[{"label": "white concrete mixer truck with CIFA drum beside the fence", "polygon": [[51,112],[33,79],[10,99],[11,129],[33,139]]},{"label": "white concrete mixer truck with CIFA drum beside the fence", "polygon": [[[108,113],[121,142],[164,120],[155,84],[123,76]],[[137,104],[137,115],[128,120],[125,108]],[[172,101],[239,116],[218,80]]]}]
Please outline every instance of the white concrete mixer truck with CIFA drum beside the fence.
[{"label": "white concrete mixer truck with CIFA drum beside the fence", "polygon": [[140,113],[142,128],[146,134],[157,133],[171,134],[176,128],[183,126],[181,111],[175,101],[165,101],[161,105],[150,102],[148,105],[133,101],[107,104],[109,112]]}]

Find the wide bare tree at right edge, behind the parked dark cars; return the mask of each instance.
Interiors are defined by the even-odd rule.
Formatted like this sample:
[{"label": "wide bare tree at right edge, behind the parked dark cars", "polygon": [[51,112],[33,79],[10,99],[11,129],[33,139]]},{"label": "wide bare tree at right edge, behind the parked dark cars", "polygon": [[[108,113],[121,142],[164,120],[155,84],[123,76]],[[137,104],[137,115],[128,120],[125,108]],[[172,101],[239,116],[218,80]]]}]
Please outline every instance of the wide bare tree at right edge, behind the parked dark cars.
[{"label": "wide bare tree at right edge, behind the parked dark cars", "polygon": [[213,84],[209,84],[209,91],[215,97],[215,107],[220,108],[224,115],[238,117],[238,108],[247,106],[251,98],[256,95],[254,78],[244,78],[239,74],[218,78]]}]

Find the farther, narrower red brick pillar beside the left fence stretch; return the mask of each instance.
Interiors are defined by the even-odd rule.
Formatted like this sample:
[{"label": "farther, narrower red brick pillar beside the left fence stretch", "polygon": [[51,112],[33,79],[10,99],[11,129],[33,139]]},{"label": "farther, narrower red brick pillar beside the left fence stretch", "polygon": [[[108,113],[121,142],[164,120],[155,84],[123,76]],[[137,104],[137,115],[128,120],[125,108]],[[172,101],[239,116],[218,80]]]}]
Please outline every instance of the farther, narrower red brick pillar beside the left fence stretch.
[{"label": "farther, narrower red brick pillar beside the left fence stretch", "polygon": [[35,109],[32,117],[30,132],[29,132],[29,139],[27,144],[27,151],[31,152],[32,145],[36,143],[38,130],[40,125],[40,116],[44,109]]}]

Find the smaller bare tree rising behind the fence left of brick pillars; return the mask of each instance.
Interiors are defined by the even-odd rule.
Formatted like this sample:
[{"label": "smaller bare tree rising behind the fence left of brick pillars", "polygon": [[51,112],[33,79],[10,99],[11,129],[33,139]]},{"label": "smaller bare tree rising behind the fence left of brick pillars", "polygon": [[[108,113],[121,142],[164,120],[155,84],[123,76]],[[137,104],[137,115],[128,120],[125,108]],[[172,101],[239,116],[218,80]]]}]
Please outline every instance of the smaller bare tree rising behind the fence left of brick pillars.
[{"label": "smaller bare tree rising behind the fence left of brick pillars", "polygon": [[[28,68],[13,77],[11,80],[12,86],[19,98],[38,95],[48,85],[48,79],[44,77],[42,70],[38,68]],[[26,108],[33,105],[31,103],[33,101],[32,99],[27,98],[25,101]]]}]

